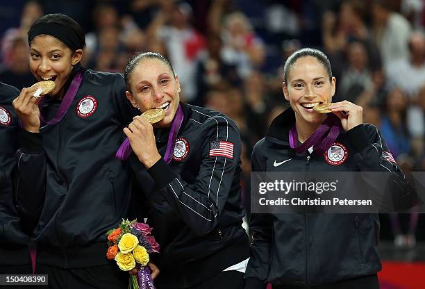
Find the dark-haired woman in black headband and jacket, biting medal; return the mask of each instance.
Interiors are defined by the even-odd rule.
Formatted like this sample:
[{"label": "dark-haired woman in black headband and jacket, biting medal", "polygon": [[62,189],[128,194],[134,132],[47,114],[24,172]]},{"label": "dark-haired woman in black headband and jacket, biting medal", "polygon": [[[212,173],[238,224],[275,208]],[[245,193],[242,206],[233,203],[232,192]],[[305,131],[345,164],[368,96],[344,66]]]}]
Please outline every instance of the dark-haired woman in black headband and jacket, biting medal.
[{"label": "dark-haired woman in black headband and jacket, biting medal", "polygon": [[128,217],[130,172],[117,160],[134,110],[122,74],[81,67],[81,26],[45,15],[28,31],[31,72],[54,81],[37,97],[24,88],[13,106],[22,124],[16,200],[34,229],[38,274],[51,288],[126,288],[128,275],[106,258],[106,231]]}]

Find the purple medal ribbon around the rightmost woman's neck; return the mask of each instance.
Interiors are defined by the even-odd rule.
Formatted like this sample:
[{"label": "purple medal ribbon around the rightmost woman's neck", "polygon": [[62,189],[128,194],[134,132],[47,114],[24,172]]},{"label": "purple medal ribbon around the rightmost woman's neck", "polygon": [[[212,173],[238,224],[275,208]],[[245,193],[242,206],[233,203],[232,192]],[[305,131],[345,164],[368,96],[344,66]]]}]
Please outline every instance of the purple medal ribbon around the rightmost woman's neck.
[{"label": "purple medal ribbon around the rightmost woman's neck", "polygon": [[297,153],[301,153],[313,146],[313,151],[315,151],[316,154],[323,154],[338,138],[341,127],[340,119],[336,115],[330,113],[324,122],[315,130],[313,135],[310,135],[310,138],[301,145],[297,145],[298,133],[294,124],[289,133],[290,147],[297,151]]}]

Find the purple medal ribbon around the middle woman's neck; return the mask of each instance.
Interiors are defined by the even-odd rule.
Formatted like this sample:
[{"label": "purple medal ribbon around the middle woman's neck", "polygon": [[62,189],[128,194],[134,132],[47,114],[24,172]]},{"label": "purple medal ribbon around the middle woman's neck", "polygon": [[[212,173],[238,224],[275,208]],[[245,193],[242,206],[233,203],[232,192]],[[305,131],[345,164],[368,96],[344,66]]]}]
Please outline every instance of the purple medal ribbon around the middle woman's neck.
[{"label": "purple medal ribbon around the middle woman's neck", "polygon": [[[172,160],[172,154],[174,150],[174,142],[176,142],[177,133],[180,130],[181,124],[183,123],[183,109],[181,108],[181,105],[178,105],[176,115],[174,115],[174,119],[172,122],[172,127],[169,131],[168,135],[168,142],[167,142],[167,151],[165,151],[164,160],[166,163],[170,163]],[[117,150],[117,153],[115,154],[115,158],[118,158],[119,160],[126,160],[128,156],[131,154],[131,145],[130,140],[126,138],[121,146],[119,146],[119,149]]]}]

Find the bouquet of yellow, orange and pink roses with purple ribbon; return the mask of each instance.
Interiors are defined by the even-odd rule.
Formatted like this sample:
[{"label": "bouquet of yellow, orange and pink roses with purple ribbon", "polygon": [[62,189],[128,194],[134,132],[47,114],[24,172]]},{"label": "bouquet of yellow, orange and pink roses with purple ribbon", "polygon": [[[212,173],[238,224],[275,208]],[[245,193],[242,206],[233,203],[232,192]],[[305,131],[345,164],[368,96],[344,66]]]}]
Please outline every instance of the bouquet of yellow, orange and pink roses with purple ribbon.
[{"label": "bouquet of yellow, orange and pink roses with purple ribbon", "polygon": [[110,229],[106,257],[117,262],[119,269],[138,269],[137,275],[130,276],[128,288],[155,288],[147,263],[149,254],[159,253],[159,245],[151,236],[152,228],[137,220],[122,220],[117,229]]}]

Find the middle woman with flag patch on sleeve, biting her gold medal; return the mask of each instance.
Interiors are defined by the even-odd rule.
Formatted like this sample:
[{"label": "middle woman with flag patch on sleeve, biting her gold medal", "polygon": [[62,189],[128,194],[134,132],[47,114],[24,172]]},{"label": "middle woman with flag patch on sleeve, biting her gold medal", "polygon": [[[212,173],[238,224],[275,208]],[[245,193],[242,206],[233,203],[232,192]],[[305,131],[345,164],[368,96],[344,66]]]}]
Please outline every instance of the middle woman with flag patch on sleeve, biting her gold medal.
[{"label": "middle woman with flag patch on sleeve, biting her gold medal", "polygon": [[222,113],[181,102],[178,76],[159,53],[134,56],[124,76],[126,97],[142,115],[124,129],[117,157],[129,156],[161,245],[152,256],[161,270],[156,288],[242,289],[249,242],[238,127]]}]

